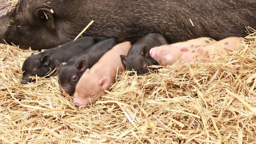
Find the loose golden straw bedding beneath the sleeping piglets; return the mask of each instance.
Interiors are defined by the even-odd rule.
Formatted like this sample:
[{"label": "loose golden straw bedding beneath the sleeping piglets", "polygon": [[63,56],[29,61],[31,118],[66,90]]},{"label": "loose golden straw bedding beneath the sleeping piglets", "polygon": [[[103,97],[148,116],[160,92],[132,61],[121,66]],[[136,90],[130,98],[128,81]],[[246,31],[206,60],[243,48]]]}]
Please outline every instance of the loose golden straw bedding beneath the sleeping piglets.
[{"label": "loose golden straw bedding beneath the sleeping piglets", "polygon": [[0,44],[0,143],[256,143],[256,32],[241,47],[210,63],[124,72],[76,108],[56,76],[20,84],[32,51]]}]

